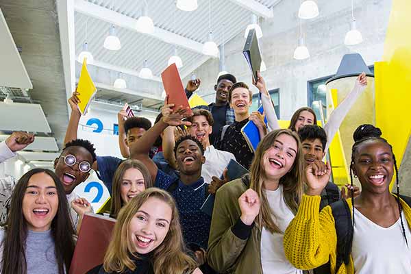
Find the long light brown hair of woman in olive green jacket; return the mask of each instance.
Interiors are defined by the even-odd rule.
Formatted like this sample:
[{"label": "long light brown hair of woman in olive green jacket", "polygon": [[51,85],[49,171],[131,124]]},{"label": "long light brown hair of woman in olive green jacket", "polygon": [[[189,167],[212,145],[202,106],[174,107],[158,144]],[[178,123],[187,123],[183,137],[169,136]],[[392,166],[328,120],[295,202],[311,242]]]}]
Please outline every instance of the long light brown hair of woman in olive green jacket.
[{"label": "long light brown hair of woman in olive green jacket", "polygon": [[273,147],[275,139],[281,134],[287,134],[292,136],[297,142],[297,155],[295,161],[292,164],[292,168],[286,175],[279,179],[279,184],[283,186],[284,200],[292,211],[297,214],[299,202],[303,195],[303,154],[301,153],[301,142],[297,133],[292,132],[290,129],[277,129],[267,134],[257,147],[254,155],[253,162],[250,169],[250,188],[257,192],[260,197],[260,213],[257,216],[256,223],[262,229],[265,227],[271,233],[283,233],[275,224],[272,218],[272,212],[269,205],[269,201],[266,197],[264,188],[264,166],[262,164],[264,153]]}]

